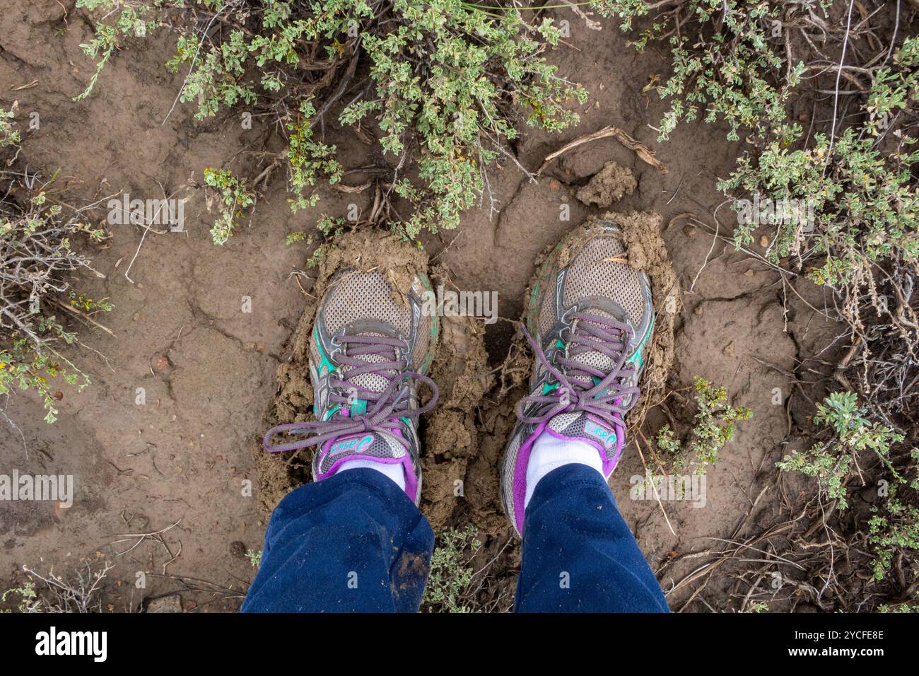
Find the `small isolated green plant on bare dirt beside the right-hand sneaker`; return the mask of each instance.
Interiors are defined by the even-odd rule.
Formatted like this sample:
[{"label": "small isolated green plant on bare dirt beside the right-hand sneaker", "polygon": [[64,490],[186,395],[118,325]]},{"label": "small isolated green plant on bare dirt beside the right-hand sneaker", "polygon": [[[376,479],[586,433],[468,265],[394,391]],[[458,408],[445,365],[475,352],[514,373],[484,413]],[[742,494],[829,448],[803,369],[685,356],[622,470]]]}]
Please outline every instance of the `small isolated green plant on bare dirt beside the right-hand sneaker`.
[{"label": "small isolated green plant on bare dirt beside the right-hand sneaker", "polygon": [[704,378],[696,377],[696,414],[689,440],[686,444],[676,438],[674,430],[664,425],[654,437],[654,443],[664,457],[683,470],[693,467],[697,475],[704,475],[709,465],[718,462],[718,454],[729,441],[733,441],[737,420],[746,420],[753,411],[728,404],[728,392],[715,387]]}]

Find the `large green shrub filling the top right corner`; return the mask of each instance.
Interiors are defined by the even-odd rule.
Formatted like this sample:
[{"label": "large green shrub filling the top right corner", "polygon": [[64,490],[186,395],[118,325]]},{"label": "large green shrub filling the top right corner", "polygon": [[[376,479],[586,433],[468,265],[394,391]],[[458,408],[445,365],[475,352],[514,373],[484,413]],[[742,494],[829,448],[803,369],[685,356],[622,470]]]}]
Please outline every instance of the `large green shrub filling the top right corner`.
[{"label": "large green shrub filling the top right corner", "polygon": [[[657,13],[650,27],[635,40],[640,49],[655,40],[670,43],[672,74],[662,86],[646,87],[657,90],[670,106],[661,120],[660,140],[669,138],[679,122],[699,118],[726,122],[729,140],[740,141],[743,134],[737,169],[720,180],[719,188],[734,201],[735,210],[742,208],[743,198],[754,196],[764,204],[784,206],[770,206],[754,221],[739,218],[736,246],[751,245],[754,230],[771,227],[766,251],[771,263],[793,264],[805,269],[811,281],[832,287],[842,296],[845,320],[857,331],[864,329],[862,292],[867,292],[868,304],[877,315],[889,317],[902,332],[907,351],[913,351],[919,345],[915,312],[898,296],[902,289],[879,291],[878,278],[884,277],[879,268],[892,269],[888,285],[902,287],[902,274],[919,262],[919,201],[913,180],[919,152],[912,149],[919,38],[906,37],[897,49],[893,44],[890,50],[885,47],[887,53],[880,57],[886,58],[845,72],[845,81],[857,82],[865,92],[860,103],[848,102],[849,109],[861,106],[861,114],[848,116],[855,123],[840,124],[836,96],[827,115],[829,128],[809,128],[805,135],[800,121],[809,116],[789,117],[791,97],[800,93],[804,78],[811,88],[816,77],[834,78],[832,86],[838,90],[840,76],[825,61],[811,63],[812,39],[798,43],[791,36],[811,30],[823,41],[843,43],[845,52],[846,44],[869,30],[831,19],[834,5],[847,12],[851,6],[832,0],[808,6],[773,0],[684,0],[669,5],[654,5]],[[644,13],[637,4],[624,9],[631,19]],[[826,58],[823,52],[820,57]],[[792,203],[796,211],[789,212]],[[794,217],[800,212],[808,217]]]}]

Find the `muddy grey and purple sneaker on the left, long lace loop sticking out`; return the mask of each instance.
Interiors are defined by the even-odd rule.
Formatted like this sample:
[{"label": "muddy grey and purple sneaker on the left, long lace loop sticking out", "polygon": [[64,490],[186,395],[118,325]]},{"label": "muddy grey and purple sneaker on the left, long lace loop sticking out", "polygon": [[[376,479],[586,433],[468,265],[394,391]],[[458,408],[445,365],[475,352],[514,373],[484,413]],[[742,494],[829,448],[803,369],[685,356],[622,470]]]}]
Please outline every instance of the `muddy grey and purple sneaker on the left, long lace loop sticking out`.
[{"label": "muddy grey and purple sneaker on the left, long lace loop sticking out", "polygon": [[[437,387],[426,375],[437,346],[437,316],[421,312],[430,289],[419,273],[406,302],[395,297],[379,271],[339,271],[320,302],[310,340],[316,420],[268,430],[265,450],[317,446],[312,460],[316,481],[354,461],[357,466],[401,465],[405,493],[417,505],[417,419],[437,402]],[[424,407],[418,406],[421,383],[433,393]],[[313,436],[272,444],[280,432]],[[391,475],[391,467],[379,469]]]}]

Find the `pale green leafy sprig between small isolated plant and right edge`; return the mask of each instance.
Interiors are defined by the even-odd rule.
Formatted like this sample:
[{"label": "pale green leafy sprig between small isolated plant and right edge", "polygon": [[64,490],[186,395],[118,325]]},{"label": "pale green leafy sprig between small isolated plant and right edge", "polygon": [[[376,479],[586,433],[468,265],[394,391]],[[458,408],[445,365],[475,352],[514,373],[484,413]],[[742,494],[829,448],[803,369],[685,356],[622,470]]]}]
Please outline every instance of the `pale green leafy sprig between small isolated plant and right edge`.
[{"label": "pale green leafy sprig between small isolated plant and right edge", "polygon": [[894,477],[902,480],[893,469],[891,444],[903,440],[903,435],[878,422],[870,422],[867,410],[857,404],[854,392],[834,392],[817,405],[813,417],[818,430],[829,430],[829,441],[816,443],[803,453],[794,451],[777,463],[784,472],[800,472],[814,476],[818,487],[836,500],[840,510],[848,507],[845,482],[853,464],[862,451],[870,450],[886,465]]}]

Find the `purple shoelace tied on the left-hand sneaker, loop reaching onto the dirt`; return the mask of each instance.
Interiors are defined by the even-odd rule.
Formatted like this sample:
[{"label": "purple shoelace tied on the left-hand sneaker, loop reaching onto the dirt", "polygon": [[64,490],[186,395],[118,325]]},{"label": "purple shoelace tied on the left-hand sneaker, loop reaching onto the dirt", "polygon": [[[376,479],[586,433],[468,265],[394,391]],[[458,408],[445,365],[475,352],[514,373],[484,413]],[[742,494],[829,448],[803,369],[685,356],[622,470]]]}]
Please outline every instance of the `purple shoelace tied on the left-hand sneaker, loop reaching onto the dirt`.
[{"label": "purple shoelace tied on the left-hand sneaker, loop reaching onto the dirt", "polygon": [[[268,430],[262,446],[269,453],[279,451],[296,451],[309,446],[321,446],[329,440],[349,434],[360,434],[368,431],[392,432],[400,424],[400,418],[418,418],[434,408],[437,404],[437,385],[421,373],[403,371],[407,367],[404,360],[399,360],[397,348],[403,347],[400,338],[385,336],[342,336],[338,339],[342,347],[339,361],[349,367],[344,378],[332,377],[329,380],[331,392],[329,401],[340,406],[332,418],[311,422],[290,422],[276,425]],[[359,359],[364,355],[376,354],[385,357],[385,361],[367,361]],[[381,392],[369,390],[354,383],[359,375],[371,373],[388,381]],[[432,393],[431,400],[420,408],[407,406],[409,387],[406,381],[417,381],[426,384]],[[350,415],[350,405],[354,399],[364,399],[367,410],[360,416]],[[289,441],[273,445],[271,438],[281,432],[295,434],[312,434],[313,436],[299,441]],[[408,449],[408,442],[401,435],[395,435]]]}]

